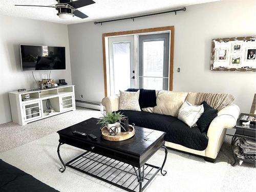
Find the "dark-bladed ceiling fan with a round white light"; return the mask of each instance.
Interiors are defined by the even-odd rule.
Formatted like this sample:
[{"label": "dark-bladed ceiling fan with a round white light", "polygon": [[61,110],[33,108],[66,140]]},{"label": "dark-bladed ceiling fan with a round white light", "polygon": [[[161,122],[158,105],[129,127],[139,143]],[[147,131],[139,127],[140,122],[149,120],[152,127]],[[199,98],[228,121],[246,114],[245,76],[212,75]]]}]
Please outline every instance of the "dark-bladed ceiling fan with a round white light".
[{"label": "dark-bladed ceiling fan with a round white light", "polygon": [[52,7],[55,8],[58,13],[59,18],[62,19],[70,19],[73,16],[77,16],[80,18],[87,18],[88,16],[77,9],[80,7],[84,7],[87,5],[94,4],[95,2],[92,0],[56,0],[58,3],[56,5],[15,5],[15,6],[29,6],[29,7]]}]

